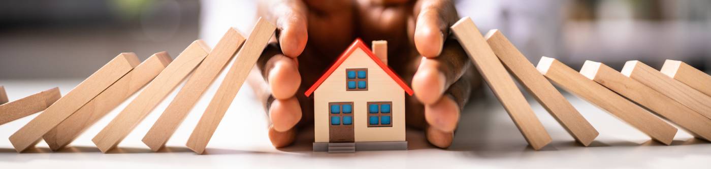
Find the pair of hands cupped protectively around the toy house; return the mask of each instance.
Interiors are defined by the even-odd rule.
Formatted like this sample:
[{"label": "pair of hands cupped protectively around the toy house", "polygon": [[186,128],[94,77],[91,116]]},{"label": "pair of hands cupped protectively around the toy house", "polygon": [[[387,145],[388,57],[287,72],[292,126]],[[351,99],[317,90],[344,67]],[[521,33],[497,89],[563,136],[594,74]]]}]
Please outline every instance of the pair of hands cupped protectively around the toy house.
[{"label": "pair of hands cupped protectively around the toy house", "polygon": [[271,91],[269,138],[276,147],[294,141],[299,121],[312,122],[313,99],[301,93],[357,37],[388,41],[390,67],[415,92],[406,97],[407,124],[424,129],[434,146],[451,144],[461,108],[481,86],[449,38],[459,16],[448,0],[270,0],[260,1],[260,16],[278,28],[257,64]]}]

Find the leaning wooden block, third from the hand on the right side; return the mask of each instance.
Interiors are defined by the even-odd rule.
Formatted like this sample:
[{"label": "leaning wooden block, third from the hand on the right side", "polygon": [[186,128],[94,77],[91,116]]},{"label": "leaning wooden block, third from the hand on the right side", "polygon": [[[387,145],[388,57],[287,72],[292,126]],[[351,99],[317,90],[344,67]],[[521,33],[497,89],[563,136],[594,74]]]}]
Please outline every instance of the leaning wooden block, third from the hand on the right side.
[{"label": "leaning wooden block, third from the hand on the right side", "polygon": [[677,129],[553,58],[542,57],[538,71],[559,87],[608,111],[651,138],[669,145]]}]

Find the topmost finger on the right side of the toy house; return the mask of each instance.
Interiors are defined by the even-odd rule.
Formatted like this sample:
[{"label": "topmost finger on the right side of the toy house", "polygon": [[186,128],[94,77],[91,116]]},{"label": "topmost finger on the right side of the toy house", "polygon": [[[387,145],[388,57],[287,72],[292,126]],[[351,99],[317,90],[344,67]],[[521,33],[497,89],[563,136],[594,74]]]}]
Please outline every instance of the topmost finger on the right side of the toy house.
[{"label": "topmost finger on the right side of the toy house", "polygon": [[424,57],[437,57],[449,35],[449,26],[458,18],[454,4],[448,0],[418,1],[415,16],[415,48]]}]

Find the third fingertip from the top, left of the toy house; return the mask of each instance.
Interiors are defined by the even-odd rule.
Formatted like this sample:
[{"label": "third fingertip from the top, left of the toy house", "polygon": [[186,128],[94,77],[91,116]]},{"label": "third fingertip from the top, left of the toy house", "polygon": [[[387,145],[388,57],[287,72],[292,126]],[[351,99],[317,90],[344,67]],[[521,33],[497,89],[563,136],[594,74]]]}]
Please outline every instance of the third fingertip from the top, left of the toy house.
[{"label": "third fingertip from the top, left of the toy house", "polygon": [[277,99],[269,107],[269,119],[272,128],[276,131],[288,131],[294,128],[301,120],[301,106],[296,97],[290,99]]}]

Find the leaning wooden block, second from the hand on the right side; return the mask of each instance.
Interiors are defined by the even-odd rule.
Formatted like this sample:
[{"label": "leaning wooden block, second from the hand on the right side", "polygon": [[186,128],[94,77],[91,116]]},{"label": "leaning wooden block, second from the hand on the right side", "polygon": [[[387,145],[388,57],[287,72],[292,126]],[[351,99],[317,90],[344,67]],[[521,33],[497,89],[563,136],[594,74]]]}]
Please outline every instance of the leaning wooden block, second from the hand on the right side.
[{"label": "leaning wooden block, second from the hand on the right side", "polygon": [[599,134],[588,121],[553,87],[533,64],[494,29],[486,33],[486,41],[513,77],[570,133],[575,140],[588,146]]}]

